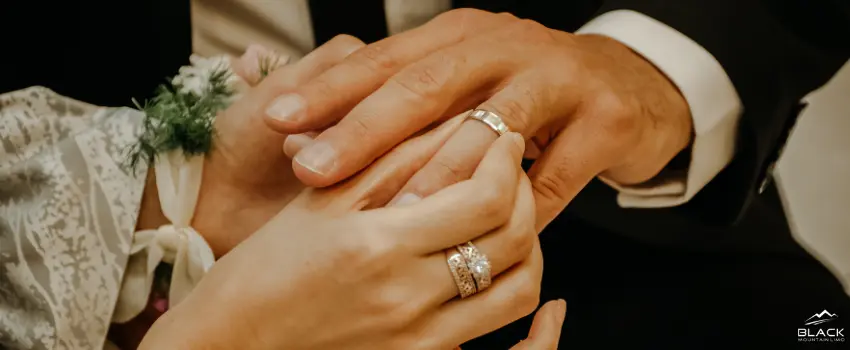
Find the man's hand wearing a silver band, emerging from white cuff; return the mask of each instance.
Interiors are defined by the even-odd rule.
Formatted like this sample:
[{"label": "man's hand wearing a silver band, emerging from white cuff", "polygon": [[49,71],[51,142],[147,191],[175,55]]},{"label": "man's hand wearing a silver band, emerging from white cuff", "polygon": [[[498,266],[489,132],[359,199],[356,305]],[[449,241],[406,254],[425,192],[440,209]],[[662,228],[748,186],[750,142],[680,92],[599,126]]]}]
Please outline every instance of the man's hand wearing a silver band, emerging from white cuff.
[{"label": "man's hand wearing a silver band, emerging from white cuff", "polygon": [[[626,46],[478,10],[450,11],[360,49],[270,103],[266,122],[305,133],[286,142],[295,174],[327,186],[475,107],[542,151],[529,173],[538,229],[593,177],[646,181],[691,139],[687,102]],[[399,196],[425,197],[469,177],[495,139],[484,124],[466,121]]]}]

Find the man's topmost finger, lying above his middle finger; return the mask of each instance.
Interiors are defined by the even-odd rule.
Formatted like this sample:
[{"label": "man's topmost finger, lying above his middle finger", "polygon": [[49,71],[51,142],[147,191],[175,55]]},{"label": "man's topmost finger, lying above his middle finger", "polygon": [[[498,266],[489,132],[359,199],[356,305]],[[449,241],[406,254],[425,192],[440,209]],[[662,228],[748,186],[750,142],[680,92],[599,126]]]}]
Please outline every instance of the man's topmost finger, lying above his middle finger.
[{"label": "man's topmost finger, lying above his middle finger", "polygon": [[284,134],[317,130],[339,120],[387,79],[428,54],[516,18],[461,9],[358,50],[341,64],[267,106],[266,122]]}]

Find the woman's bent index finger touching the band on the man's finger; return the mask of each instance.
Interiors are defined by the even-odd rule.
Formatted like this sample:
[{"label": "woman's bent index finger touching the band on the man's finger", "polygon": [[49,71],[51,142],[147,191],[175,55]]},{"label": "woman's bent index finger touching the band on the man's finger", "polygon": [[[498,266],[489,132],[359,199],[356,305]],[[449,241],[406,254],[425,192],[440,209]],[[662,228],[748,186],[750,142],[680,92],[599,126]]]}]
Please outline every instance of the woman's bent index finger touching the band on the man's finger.
[{"label": "woman's bent index finger touching the band on the man's finger", "polygon": [[364,212],[364,219],[380,222],[387,239],[421,254],[472,240],[510,218],[524,149],[522,136],[507,133],[493,143],[470,180],[416,203]]}]

